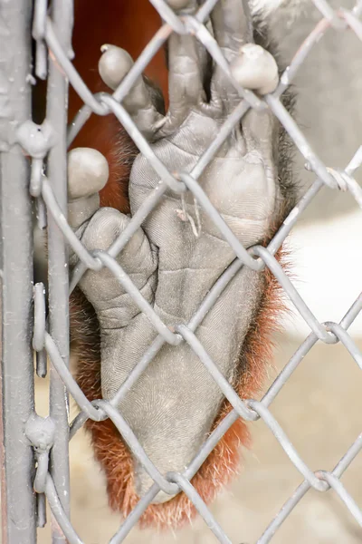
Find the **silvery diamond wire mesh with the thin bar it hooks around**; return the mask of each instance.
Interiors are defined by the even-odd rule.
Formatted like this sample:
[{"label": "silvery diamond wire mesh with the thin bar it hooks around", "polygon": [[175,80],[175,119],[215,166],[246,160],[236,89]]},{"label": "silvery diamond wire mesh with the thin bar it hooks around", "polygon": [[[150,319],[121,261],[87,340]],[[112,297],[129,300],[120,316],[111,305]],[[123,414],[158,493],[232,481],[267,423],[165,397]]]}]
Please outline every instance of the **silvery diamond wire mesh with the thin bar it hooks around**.
[{"label": "silvery diamond wire mesh with the thin bar it hooks around", "polygon": [[[135,509],[129,514],[129,517],[124,520],[119,527],[117,533],[110,540],[111,544],[122,542],[129,531],[136,525],[142,513],[148,508],[150,502],[155,498],[158,491],[164,491],[170,495],[177,491],[184,491],[187,497],[194,503],[196,510],[205,520],[208,527],[214,532],[215,537],[223,543],[230,543],[231,540],[226,536],[224,529],[214,519],[211,510],[205,505],[205,502],[198,495],[197,491],[191,484],[191,480],[198,471],[202,463],[205,461],[210,452],[213,451],[215,445],[221,440],[224,433],[231,425],[242,417],[248,422],[253,422],[262,419],[263,423],[269,428],[276,440],[281,444],[283,451],[289,457],[291,463],[300,471],[301,483],[294,494],[287,498],[284,506],[276,514],[274,520],[271,521],[269,527],[265,529],[257,544],[266,544],[270,542],[281,524],[286,520],[302,497],[310,491],[310,489],[319,492],[333,490],[337,493],[340,500],[346,505],[349,512],[355,518],[357,523],[362,526],[362,505],[357,505],[356,501],[348,493],[348,490],[340,481],[342,474],[348,469],[351,461],[357,456],[362,449],[362,435],[358,436],[356,441],[351,444],[348,452],[338,461],[333,471],[312,471],[308,464],[302,460],[300,453],[291,443],[286,432],[281,428],[280,423],[271,414],[270,405],[280,393],[283,385],[290,379],[291,374],[301,364],[305,355],[318,341],[326,344],[341,343],[346,347],[348,353],[355,360],[358,367],[362,370],[362,354],[357,345],[348,334],[348,328],[356,319],[362,309],[362,295],[357,297],[357,300],[352,306],[347,308],[346,315],[342,317],[339,323],[319,323],[319,320],[310,310],[303,298],[298,293],[297,289],[291,283],[289,277],[278,263],[275,255],[285,238],[290,234],[291,228],[297,223],[305,209],[308,208],[310,202],[315,199],[320,190],[343,190],[349,191],[351,197],[356,199],[359,207],[362,208],[362,189],[358,186],[356,180],[353,179],[353,173],[362,162],[362,148],[359,148],[352,157],[350,163],[345,170],[338,171],[325,165],[315,152],[310,148],[310,144],[303,135],[296,121],[291,118],[289,112],[281,102],[281,94],[290,85],[292,79],[298,72],[301,63],[303,63],[310,53],[314,45],[319,41],[320,37],[331,29],[333,32],[354,32],[357,38],[362,40],[362,24],[359,20],[362,9],[360,2],[351,11],[340,9],[333,10],[327,0],[313,0],[314,5],[319,9],[321,19],[310,35],[301,44],[300,49],[295,53],[294,58],[281,75],[281,80],[278,88],[264,98],[258,97],[250,91],[246,91],[233,81],[236,91],[239,93],[240,102],[231,112],[229,117],[224,121],[223,126],[217,134],[217,137],[205,149],[204,153],[196,162],[194,169],[186,174],[178,172],[177,175],[167,170],[167,167],[159,160],[149,146],[148,141],[144,138],[134,121],[126,112],[121,102],[127,95],[132,85],[138,80],[139,75],[143,72],[154,55],[165,44],[167,38],[173,32],[179,34],[193,33],[196,38],[205,46],[211,54],[214,62],[217,63],[224,71],[225,77],[233,80],[228,63],[219,46],[214,41],[214,38],[209,34],[205,27],[205,20],[213,9],[218,0],[207,0],[199,7],[198,12],[191,15],[177,15],[167,5],[164,0],[150,0],[151,4],[157,8],[161,15],[164,24],[157,31],[154,38],[149,42],[143,53],[140,54],[138,60],[133,65],[128,75],[119,84],[118,89],[110,93],[93,94],[90,89],[82,81],[81,76],[71,63],[71,0],[64,2],[62,8],[58,7],[50,15],[46,14],[46,3],[43,0],[35,1],[35,10],[33,14],[33,37],[36,41],[36,63],[35,71],[39,77],[47,76],[47,63],[50,63],[49,78],[52,80],[48,90],[48,112],[47,120],[53,126],[54,131],[62,134],[62,144],[51,142],[49,149],[42,148],[41,150],[33,150],[26,146],[26,134],[22,140],[24,150],[33,158],[32,175],[30,183],[30,195],[37,199],[40,206],[45,207],[48,214],[48,229],[50,236],[50,265],[52,266],[52,283],[50,284],[50,302],[51,302],[51,320],[50,327],[45,321],[45,292],[43,285],[34,287],[34,326],[33,326],[33,349],[37,352],[39,361],[38,374],[45,374],[45,354],[49,356],[52,364],[52,395],[51,417],[57,424],[57,436],[53,437],[53,442],[45,444],[41,451],[36,450],[36,441],[33,434],[28,435],[29,440],[37,452],[37,470],[34,479],[34,490],[38,491],[38,525],[44,523],[43,517],[43,493],[45,494],[52,510],[52,515],[57,521],[56,527],[60,528],[59,533],[55,531],[57,542],[67,539],[71,544],[83,544],[80,537],[71,525],[69,516],[69,503],[67,493],[68,490],[68,461],[67,447],[68,439],[77,432],[87,419],[95,422],[100,422],[106,418],[115,424],[124,441],[129,445],[130,450],[141,463],[145,471],[154,481],[154,484],[149,489],[144,497],[142,497]],[[0,3],[1,5],[1,3]],[[62,30],[65,31],[62,34]],[[51,52],[49,59],[46,58],[46,51]],[[52,73],[52,63],[57,63],[62,67],[63,74],[59,71],[57,75]],[[71,123],[66,135],[65,130],[65,97],[67,93],[65,77],[78,92],[84,106],[78,113],[76,119]],[[64,112],[56,113],[54,103],[56,100],[62,99]],[[59,103],[57,103],[59,109]],[[233,235],[232,230],[226,225],[219,212],[214,208],[213,204],[208,199],[205,191],[198,183],[198,179],[213,159],[214,154],[223,144],[228,135],[233,131],[233,127],[243,119],[243,115],[251,108],[263,109],[269,108],[271,112],[281,121],[285,130],[289,132],[291,140],[294,142],[300,153],[304,156],[308,163],[308,168],[312,170],[316,176],[316,180],[307,190],[300,201],[291,210],[289,216],[284,220],[281,228],[271,239],[271,242],[266,248],[254,246],[253,248],[243,248],[240,241]],[[65,140],[70,145],[77,133],[84,126],[91,114],[105,115],[112,113],[119,120],[119,123],[124,127],[133,141],[138,146],[138,150],[142,152],[148,159],[149,164],[157,172],[160,183],[157,189],[151,192],[143,204],[140,206],[136,214],[130,219],[128,227],[119,235],[119,238],[114,241],[107,251],[95,251],[90,253],[85,248],[79,238],[73,233],[66,219],[66,156],[65,156]],[[25,123],[24,123],[25,124]],[[25,127],[26,128],[26,127]],[[26,130],[32,130],[30,125],[27,125]],[[58,183],[50,183],[43,175],[43,159],[47,158],[48,172],[47,176],[56,176]],[[55,170],[57,169],[57,172]],[[58,189],[54,189],[54,187]],[[224,274],[214,284],[214,287],[205,296],[202,304],[197,308],[195,315],[191,317],[186,325],[175,324],[173,331],[157,316],[153,307],[142,296],[130,277],[119,266],[116,257],[120,251],[126,246],[129,239],[141,226],[145,218],[152,214],[153,209],[157,206],[160,199],[163,198],[167,189],[172,189],[176,193],[183,193],[188,189],[197,199],[198,204],[205,210],[205,213],[214,222],[214,225],[219,229],[222,237],[233,248],[235,255],[234,261],[228,267]],[[79,258],[78,265],[74,268],[71,277],[70,286],[68,288],[68,278],[66,273],[68,268],[66,245],[69,245],[74,251],[76,257]],[[80,281],[82,275],[89,269],[100,271],[103,267],[107,267],[110,272],[116,277],[123,289],[132,297],[139,311],[148,316],[149,321],[154,325],[157,331],[157,338],[152,345],[149,346],[147,352],[143,355],[138,364],[134,367],[126,381],[120,386],[119,391],[110,401],[99,399],[90,403],[81,388],[76,384],[71,372],[68,368],[68,296],[74,287]],[[282,369],[281,373],[271,384],[269,390],[264,394],[261,401],[254,399],[241,399],[233,390],[233,387],[225,380],[223,374],[218,370],[217,364],[212,357],[207,354],[205,347],[200,343],[195,335],[197,327],[208,311],[214,306],[218,296],[224,291],[233,277],[240,273],[243,267],[249,267],[252,270],[262,270],[265,267],[269,268],[272,275],[277,279],[284,293],[291,299],[292,304],[303,317],[304,321],[310,327],[310,335],[300,345],[291,360]],[[50,277],[51,277],[50,276]],[[54,280],[55,277],[55,280]],[[152,461],[148,458],[147,453],[143,450],[135,433],[130,429],[129,424],[119,413],[117,406],[123,399],[125,394],[131,389],[142,374],[148,364],[157,355],[163,345],[180,345],[186,342],[198,356],[201,363],[213,377],[216,384],[219,385],[224,396],[232,404],[233,410],[229,413],[219,426],[207,438],[200,451],[197,452],[195,459],[191,461],[186,471],[169,472],[161,474]],[[56,377],[54,377],[56,375]],[[5,383],[6,387],[6,383]],[[77,415],[75,420],[68,424],[67,401],[64,392],[70,393],[81,409],[81,413]],[[39,426],[39,432],[42,431],[42,425]],[[35,432],[36,438],[36,432]],[[49,464],[49,452],[52,463]],[[241,535],[242,539],[242,535]],[[14,544],[15,539],[9,540],[10,544]],[[27,540],[30,542],[30,540]]]}]

